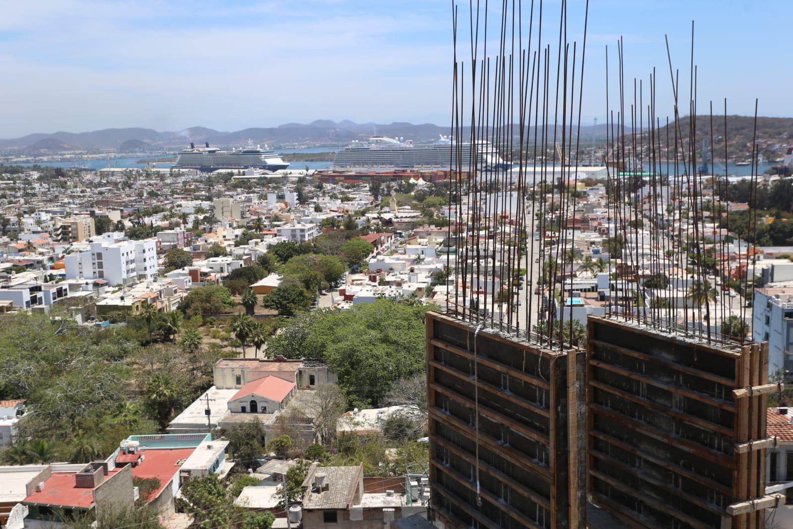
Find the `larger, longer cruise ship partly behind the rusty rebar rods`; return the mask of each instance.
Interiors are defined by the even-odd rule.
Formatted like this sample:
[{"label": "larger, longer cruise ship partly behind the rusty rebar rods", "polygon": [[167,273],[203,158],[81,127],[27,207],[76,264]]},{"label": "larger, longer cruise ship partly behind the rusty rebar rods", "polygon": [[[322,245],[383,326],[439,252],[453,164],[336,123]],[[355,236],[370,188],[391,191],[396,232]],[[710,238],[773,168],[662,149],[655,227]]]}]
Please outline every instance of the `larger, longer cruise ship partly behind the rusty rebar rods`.
[{"label": "larger, longer cruise ship partly behind the rusty rebar rods", "polygon": [[[461,164],[458,165],[458,156]],[[369,141],[354,141],[337,152],[333,169],[370,171],[375,168],[395,169],[462,169],[494,170],[508,167],[488,141],[457,144],[453,138],[441,136],[433,144],[414,145],[412,140],[372,136]]]}]

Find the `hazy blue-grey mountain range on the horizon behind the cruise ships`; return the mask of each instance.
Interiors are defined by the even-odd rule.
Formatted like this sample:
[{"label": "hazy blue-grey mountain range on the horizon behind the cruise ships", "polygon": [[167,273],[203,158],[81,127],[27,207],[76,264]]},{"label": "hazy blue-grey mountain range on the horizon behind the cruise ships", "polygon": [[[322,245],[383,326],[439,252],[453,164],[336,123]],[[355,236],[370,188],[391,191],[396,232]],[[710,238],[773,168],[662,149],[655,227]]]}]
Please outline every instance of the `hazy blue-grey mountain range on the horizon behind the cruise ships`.
[{"label": "hazy blue-grey mountain range on the horizon behind the cruise ships", "polygon": [[[581,126],[581,138],[603,139],[606,128]],[[177,132],[158,132],[151,128],[105,128],[92,132],[36,132],[20,138],[0,140],[0,149],[20,151],[25,154],[61,150],[90,150],[114,148],[126,150],[135,146],[135,151],[144,150],[146,144],[151,150],[186,147],[193,141],[197,145],[209,142],[217,147],[240,146],[251,140],[254,144],[270,144],[280,147],[295,144],[346,145],[352,140],[366,140],[370,136],[381,135],[404,137],[406,140],[422,142],[437,140],[439,135],[448,135],[448,126],[424,123],[414,125],[406,122],[389,124],[354,123],[353,121],[316,120],[308,125],[285,123],[278,127],[244,128],[234,132],[222,132],[213,128],[190,127]],[[594,133],[593,133],[594,132]],[[462,128],[461,135],[467,137],[469,128]],[[59,145],[66,148],[59,149]],[[67,149],[68,148],[68,149]],[[132,150],[132,149],[130,149]]]}]

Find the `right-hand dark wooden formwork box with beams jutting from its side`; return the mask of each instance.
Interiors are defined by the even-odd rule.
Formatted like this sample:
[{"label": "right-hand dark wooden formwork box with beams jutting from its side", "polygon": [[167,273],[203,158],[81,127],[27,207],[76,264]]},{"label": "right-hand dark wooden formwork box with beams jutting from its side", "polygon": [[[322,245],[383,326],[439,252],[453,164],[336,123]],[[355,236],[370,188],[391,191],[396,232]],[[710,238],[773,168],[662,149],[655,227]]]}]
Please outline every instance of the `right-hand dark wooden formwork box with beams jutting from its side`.
[{"label": "right-hand dark wooden formwork box with beams jutting from its side", "polygon": [[[588,493],[633,527],[760,529],[768,348],[589,317]],[[747,389],[748,388],[748,389]]]}]

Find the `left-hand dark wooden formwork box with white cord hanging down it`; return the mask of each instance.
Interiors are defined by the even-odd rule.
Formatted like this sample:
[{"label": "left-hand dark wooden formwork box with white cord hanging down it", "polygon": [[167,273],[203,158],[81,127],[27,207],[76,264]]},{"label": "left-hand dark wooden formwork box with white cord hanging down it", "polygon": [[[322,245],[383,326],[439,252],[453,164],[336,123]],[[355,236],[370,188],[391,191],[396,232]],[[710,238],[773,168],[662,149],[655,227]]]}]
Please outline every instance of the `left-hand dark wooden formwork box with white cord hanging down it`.
[{"label": "left-hand dark wooden formwork box with white cord hanging down it", "polygon": [[447,527],[585,527],[584,359],[427,314],[432,507]]}]

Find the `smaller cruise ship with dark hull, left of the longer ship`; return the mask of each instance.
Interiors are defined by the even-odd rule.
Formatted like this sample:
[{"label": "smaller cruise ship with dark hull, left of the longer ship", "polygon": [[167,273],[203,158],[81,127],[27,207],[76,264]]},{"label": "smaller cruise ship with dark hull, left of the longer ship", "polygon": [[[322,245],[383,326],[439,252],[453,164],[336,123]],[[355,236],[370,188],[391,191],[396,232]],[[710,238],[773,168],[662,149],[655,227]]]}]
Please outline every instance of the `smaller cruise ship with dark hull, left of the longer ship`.
[{"label": "smaller cruise ship with dark hull, left of the longer ship", "polygon": [[217,171],[223,169],[265,169],[266,171],[278,171],[289,167],[289,162],[285,162],[281,155],[271,151],[265,145],[247,145],[247,147],[232,149],[231,151],[221,151],[216,147],[196,148],[190,142],[190,148],[180,152],[174,167],[184,167],[186,169],[197,169],[199,171]]}]

